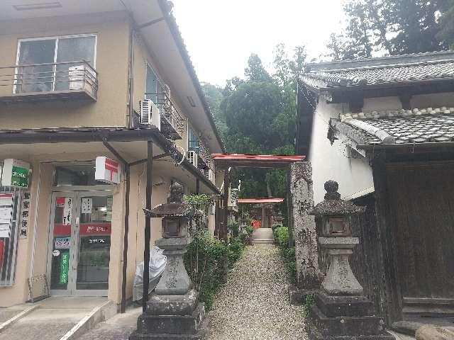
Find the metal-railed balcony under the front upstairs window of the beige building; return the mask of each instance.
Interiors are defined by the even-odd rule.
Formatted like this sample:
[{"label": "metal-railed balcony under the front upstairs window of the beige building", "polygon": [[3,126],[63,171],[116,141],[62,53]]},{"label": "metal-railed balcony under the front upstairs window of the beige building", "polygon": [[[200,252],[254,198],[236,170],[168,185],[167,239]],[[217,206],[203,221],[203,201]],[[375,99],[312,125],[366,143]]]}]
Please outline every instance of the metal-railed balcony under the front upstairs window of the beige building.
[{"label": "metal-railed balcony under the front upstairs window of the beige building", "polygon": [[98,72],[84,60],[0,67],[0,102],[96,101]]}]

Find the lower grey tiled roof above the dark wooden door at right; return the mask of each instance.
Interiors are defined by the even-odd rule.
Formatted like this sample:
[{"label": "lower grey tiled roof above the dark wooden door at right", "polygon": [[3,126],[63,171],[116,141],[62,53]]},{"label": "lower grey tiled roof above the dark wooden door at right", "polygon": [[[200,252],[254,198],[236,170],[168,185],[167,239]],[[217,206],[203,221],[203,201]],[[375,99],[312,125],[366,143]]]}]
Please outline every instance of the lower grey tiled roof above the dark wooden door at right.
[{"label": "lower grey tiled roof above the dark wooden door at right", "polygon": [[358,144],[454,142],[454,108],[346,114],[331,125],[338,130],[339,123],[349,126]]}]

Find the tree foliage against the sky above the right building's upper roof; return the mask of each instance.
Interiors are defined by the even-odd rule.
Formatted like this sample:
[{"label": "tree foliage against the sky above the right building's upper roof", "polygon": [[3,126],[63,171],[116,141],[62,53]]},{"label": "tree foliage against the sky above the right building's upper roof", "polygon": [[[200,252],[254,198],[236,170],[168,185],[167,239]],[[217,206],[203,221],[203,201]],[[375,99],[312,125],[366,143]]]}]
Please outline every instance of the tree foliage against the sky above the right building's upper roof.
[{"label": "tree foliage against the sky above the right building's upper roof", "polygon": [[349,0],[342,33],[327,44],[334,60],[446,50],[454,42],[454,0]]}]

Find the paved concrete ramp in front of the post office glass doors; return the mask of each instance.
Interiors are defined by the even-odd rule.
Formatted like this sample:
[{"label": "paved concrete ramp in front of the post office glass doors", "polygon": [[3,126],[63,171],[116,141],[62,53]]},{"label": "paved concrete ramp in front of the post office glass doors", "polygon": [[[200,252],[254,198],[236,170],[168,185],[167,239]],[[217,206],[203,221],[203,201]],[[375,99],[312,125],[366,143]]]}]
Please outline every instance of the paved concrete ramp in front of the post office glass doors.
[{"label": "paved concrete ramp in front of the post office glass doors", "polygon": [[[0,340],[58,340],[104,301],[105,297],[50,297],[37,302],[37,310],[1,331]],[[31,305],[17,307],[21,306],[25,309]]]}]

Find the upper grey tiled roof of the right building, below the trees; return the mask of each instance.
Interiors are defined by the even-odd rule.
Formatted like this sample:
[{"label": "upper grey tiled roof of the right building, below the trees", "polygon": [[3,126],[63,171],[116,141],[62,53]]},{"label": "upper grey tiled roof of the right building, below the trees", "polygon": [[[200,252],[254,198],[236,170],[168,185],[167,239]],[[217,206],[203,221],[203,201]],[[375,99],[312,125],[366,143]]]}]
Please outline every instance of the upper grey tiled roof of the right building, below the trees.
[{"label": "upper grey tiled roof of the right building, below the trees", "polygon": [[[395,64],[378,64],[341,69],[316,69],[301,74],[304,84],[316,88],[339,86],[364,86],[391,84],[429,79],[454,79],[454,55],[445,55],[445,60],[419,61],[416,57],[393,60]],[[345,66],[345,65],[341,65]]]}]

